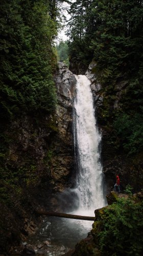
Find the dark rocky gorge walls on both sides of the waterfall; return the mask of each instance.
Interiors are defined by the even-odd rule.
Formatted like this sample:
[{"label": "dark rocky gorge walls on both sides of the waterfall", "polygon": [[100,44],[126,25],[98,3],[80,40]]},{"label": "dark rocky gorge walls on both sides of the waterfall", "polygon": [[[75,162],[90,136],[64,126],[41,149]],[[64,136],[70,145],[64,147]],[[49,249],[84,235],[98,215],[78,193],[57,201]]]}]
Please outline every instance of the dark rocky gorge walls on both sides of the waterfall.
[{"label": "dark rocky gorge walls on both sides of the waterfall", "polygon": [[[95,75],[92,62],[86,76],[91,80],[96,115],[102,132],[101,155],[107,191],[113,189],[115,175],[121,177],[121,189],[130,184],[135,191],[142,186],[142,154],[128,155],[122,148],[120,136],[113,130],[113,116],[120,109],[128,81],[114,87],[110,98]],[[1,129],[1,208],[0,252],[25,240],[34,232],[41,218],[35,210],[60,209],[60,193],[74,184],[74,145],[72,131],[75,76],[59,63],[54,76],[58,104],[55,113],[26,115],[23,113]]]}]

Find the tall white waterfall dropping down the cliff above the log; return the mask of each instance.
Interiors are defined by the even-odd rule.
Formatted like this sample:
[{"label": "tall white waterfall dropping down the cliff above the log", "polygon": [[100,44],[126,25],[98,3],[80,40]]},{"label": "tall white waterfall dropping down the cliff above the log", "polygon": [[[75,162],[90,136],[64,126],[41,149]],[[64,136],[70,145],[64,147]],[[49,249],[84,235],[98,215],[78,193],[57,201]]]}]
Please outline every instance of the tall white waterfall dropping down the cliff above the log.
[{"label": "tall white waterfall dropping down the cliff above the log", "polygon": [[76,79],[74,141],[78,164],[76,187],[79,212],[81,211],[82,215],[84,212],[94,215],[95,209],[106,205],[99,151],[101,134],[94,115],[90,81],[82,75],[76,76]]}]

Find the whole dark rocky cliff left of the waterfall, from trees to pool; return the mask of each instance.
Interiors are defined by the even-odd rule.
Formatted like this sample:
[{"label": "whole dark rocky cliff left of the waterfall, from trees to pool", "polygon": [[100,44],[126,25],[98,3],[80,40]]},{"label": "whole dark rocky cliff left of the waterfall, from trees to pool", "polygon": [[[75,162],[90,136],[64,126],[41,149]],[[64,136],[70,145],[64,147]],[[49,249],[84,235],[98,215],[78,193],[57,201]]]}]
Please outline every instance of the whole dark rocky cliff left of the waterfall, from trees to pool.
[{"label": "whole dark rocky cliff left of the waterfall, from trees to pool", "polygon": [[55,84],[58,94],[55,113],[40,116],[23,113],[11,123],[3,123],[6,150],[0,159],[3,166],[0,254],[33,232],[40,222],[34,211],[57,207],[56,194],[71,185],[76,79],[61,63]]}]

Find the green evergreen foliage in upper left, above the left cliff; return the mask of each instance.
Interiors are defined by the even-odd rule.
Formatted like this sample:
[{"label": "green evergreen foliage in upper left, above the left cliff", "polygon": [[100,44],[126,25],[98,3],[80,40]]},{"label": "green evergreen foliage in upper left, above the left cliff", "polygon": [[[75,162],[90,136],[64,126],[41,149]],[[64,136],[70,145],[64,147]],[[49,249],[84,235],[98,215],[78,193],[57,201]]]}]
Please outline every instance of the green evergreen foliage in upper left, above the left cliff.
[{"label": "green evergreen foliage in upper left, above the left cliff", "polygon": [[1,9],[1,117],[52,111],[56,26],[46,1],[3,1]]}]

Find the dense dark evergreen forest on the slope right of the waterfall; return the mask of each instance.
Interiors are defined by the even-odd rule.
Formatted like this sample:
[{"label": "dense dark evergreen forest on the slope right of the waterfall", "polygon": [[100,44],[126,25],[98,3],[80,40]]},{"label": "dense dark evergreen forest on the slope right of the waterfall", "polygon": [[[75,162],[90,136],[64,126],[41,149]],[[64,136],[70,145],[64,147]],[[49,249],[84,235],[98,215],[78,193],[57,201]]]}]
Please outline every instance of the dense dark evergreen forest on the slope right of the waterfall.
[{"label": "dense dark evergreen forest on the slope right of the waterfall", "polygon": [[[109,124],[116,148],[122,145],[127,154],[141,152],[143,2],[77,0],[69,13],[70,62],[84,70],[92,60],[97,62],[93,71],[105,96],[100,122]],[[119,87],[126,89],[115,109],[113,102],[121,81]]]}]

